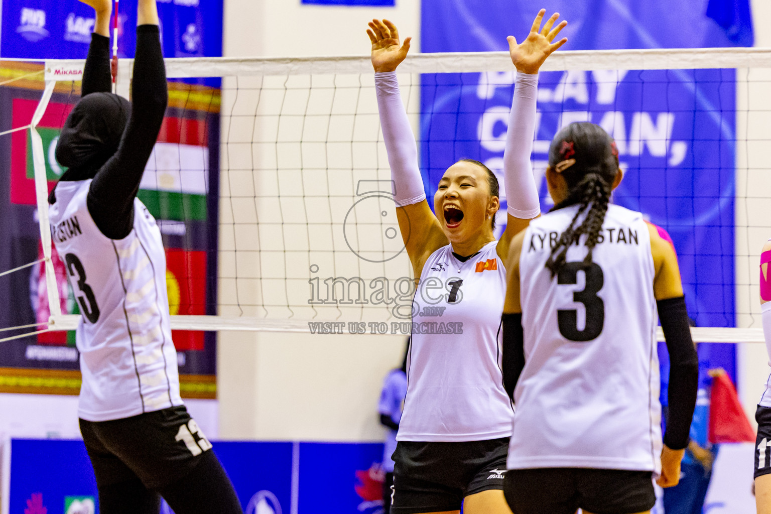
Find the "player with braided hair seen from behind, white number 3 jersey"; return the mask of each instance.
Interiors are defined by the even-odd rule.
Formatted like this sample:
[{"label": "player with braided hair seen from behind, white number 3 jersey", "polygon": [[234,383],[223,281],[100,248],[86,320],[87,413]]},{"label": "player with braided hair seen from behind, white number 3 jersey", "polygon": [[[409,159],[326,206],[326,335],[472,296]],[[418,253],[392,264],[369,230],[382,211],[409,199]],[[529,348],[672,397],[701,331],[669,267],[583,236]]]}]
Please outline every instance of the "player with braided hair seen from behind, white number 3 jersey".
[{"label": "player with braided hair seen from behind, white number 3 jersey", "polygon": [[[608,204],[621,170],[601,127],[562,129],[546,176],[554,210],[514,238],[507,266],[506,499],[517,514],[647,512],[652,473],[678,482],[696,401],[675,250],[641,213]],[[657,309],[671,361],[663,448]]]}]

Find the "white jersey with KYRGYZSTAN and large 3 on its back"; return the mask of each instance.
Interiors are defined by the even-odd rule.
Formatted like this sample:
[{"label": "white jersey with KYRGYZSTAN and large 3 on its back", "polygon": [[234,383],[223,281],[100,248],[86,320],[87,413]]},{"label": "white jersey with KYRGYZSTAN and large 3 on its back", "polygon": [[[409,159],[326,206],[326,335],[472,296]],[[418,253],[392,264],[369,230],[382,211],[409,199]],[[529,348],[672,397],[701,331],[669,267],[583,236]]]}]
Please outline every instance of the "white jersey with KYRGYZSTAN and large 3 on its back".
[{"label": "white jersey with KYRGYZSTAN and large 3 on its back", "polygon": [[[509,469],[660,472],[658,311],[641,213],[611,205],[587,272],[585,236],[551,277],[551,246],[578,206],[530,222],[520,257],[525,366]],[[579,222],[583,219],[580,218]]]}]

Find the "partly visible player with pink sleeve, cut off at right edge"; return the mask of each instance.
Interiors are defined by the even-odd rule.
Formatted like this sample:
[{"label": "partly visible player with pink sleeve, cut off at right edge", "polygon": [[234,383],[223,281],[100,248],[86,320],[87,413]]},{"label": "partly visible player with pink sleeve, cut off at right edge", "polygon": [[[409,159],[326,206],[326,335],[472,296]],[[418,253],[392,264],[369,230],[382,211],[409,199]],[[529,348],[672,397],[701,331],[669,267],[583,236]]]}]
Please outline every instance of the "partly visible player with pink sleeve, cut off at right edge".
[{"label": "partly visible player with pink sleeve, cut off at right edge", "polygon": [[[763,311],[763,335],[771,363],[771,240],[760,254],[760,309]],[[755,501],[758,514],[771,514],[771,375],[755,413],[758,438],[755,448]]]}]

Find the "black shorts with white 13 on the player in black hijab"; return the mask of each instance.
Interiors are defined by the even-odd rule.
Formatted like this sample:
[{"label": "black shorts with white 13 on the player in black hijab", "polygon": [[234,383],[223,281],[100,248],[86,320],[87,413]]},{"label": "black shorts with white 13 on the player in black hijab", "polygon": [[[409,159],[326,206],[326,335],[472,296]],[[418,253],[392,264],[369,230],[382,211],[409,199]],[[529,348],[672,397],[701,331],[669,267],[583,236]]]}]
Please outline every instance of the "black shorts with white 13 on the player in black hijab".
[{"label": "black shorts with white 13 on the player in black hijab", "polygon": [[211,443],[184,405],[109,422],[80,420],[96,485],[139,478],[147,489],[187,475]]}]

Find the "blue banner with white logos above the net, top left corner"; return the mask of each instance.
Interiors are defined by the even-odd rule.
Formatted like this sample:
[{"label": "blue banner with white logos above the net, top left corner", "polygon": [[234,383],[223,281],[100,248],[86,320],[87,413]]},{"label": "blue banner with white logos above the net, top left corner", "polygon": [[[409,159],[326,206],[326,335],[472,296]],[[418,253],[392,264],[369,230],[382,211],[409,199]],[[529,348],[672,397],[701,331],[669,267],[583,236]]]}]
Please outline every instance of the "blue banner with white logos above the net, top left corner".
[{"label": "blue banner with white logos above the net, top left corner", "polygon": [[[119,56],[133,57],[136,2],[120,7]],[[158,14],[165,57],[222,55],[222,0],[159,0]],[[78,2],[6,0],[2,2],[0,55],[16,59],[85,59],[95,23],[93,9]]]}]

